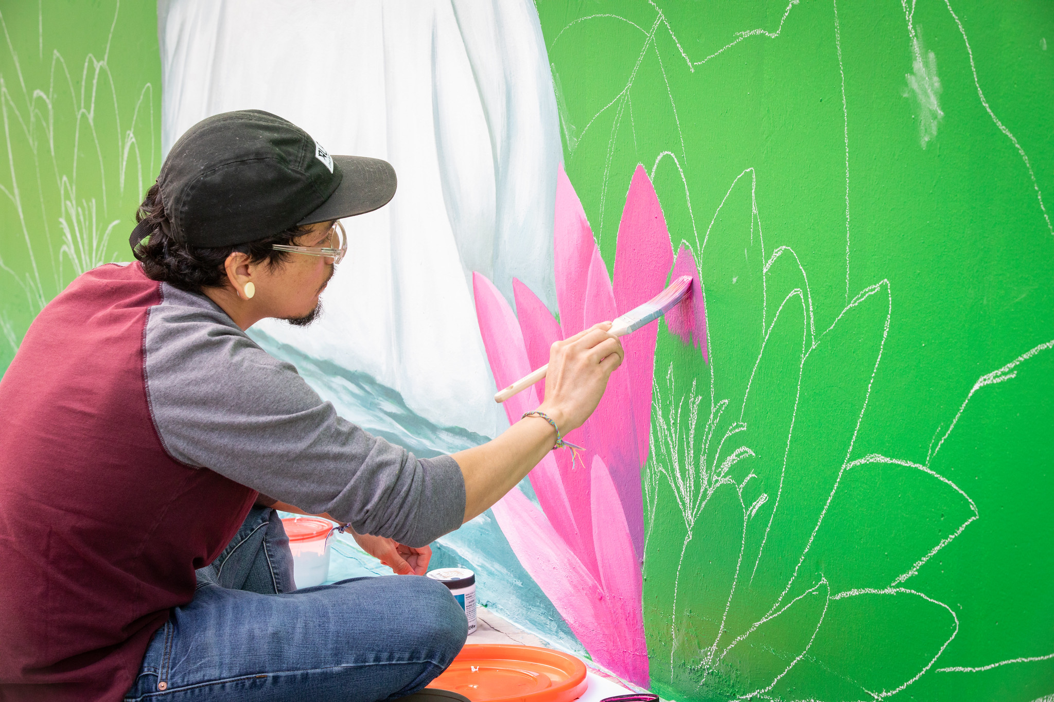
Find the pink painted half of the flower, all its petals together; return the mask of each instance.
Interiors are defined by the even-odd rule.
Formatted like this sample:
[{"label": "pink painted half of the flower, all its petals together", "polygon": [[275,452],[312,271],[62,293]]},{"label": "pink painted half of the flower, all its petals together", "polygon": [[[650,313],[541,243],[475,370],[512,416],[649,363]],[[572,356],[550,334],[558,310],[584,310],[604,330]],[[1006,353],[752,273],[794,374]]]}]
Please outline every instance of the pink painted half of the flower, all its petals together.
[{"label": "pink painted half of the flower, all its petals together", "polygon": [[[562,167],[553,248],[559,322],[519,281],[513,284],[516,316],[487,278],[474,276],[480,329],[499,387],[546,363],[552,342],[657,295],[674,264],[662,209],[643,167],[633,174],[626,197],[613,285]],[[705,337],[702,306],[689,305],[680,315],[679,328],[699,345]],[[520,490],[493,508],[518,558],[593,660],[640,685],[648,682],[641,615],[641,468],[649,452],[656,337],[657,326],[649,325],[623,339],[622,367],[612,374],[597,412],[568,437],[586,450],[579,458],[554,452],[531,472],[541,509]],[[506,401],[509,421],[536,407],[543,392],[544,382]]]}]

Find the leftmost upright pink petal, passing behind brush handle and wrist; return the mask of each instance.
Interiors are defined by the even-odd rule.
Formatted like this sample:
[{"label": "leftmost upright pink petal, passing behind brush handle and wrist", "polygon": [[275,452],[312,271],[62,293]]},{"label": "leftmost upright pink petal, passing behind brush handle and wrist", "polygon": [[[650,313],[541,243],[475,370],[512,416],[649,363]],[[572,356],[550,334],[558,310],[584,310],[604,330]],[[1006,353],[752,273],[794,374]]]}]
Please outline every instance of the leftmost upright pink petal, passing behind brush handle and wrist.
[{"label": "leftmost upright pink petal, passing behind brush handle and wrist", "polygon": [[[505,387],[530,372],[523,334],[509,303],[486,276],[472,274],[472,287],[475,293],[475,314],[483,336],[483,347],[487,352],[487,360],[490,361],[495,383],[499,387]],[[533,387],[512,396],[505,401],[509,423],[518,422],[523,413],[534,409],[538,405]],[[560,468],[551,454],[542,459],[531,470],[530,480],[539,503],[549,515],[553,527],[564,541],[592,558],[592,531],[580,529],[575,525],[572,512],[581,512],[581,507],[577,504],[572,507],[561,480]],[[579,501],[581,496],[574,496],[574,502]]]}]

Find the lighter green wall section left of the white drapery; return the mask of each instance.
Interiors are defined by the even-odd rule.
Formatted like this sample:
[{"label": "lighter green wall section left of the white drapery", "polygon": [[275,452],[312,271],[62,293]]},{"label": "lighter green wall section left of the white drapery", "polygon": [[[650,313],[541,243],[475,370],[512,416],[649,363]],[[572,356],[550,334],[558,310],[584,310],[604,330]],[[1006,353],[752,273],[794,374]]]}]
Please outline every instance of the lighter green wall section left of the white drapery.
[{"label": "lighter green wall section left of the white drapery", "polygon": [[150,0],[0,3],[0,372],[77,275],[128,261],[161,156]]}]

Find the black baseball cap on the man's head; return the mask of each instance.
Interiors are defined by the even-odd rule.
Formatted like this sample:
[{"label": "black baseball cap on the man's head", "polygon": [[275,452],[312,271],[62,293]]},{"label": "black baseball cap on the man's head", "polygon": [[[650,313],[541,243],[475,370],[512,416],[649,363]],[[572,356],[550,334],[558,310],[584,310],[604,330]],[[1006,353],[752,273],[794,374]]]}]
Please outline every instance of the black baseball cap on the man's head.
[{"label": "black baseball cap on the man's head", "polygon": [[[289,120],[239,109],[188,129],[157,184],[172,237],[214,248],[372,212],[392,199],[396,181],[387,161],[331,156]],[[151,234],[143,224],[129,238],[133,248]]]}]

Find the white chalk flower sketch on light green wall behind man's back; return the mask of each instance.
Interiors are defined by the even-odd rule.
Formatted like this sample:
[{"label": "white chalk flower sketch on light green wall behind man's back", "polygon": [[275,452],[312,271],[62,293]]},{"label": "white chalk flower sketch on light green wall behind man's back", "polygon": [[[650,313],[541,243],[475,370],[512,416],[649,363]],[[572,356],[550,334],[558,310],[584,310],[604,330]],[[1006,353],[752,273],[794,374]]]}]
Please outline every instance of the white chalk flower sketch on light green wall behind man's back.
[{"label": "white chalk flower sketch on light green wall behind man's back", "polygon": [[[0,256],[0,270],[24,294],[24,304],[17,307],[14,300],[5,301],[13,303],[8,309],[21,307],[35,316],[76,276],[124,258],[123,240],[112,235],[122,221],[126,224],[134,207],[130,201],[138,203],[156,171],[157,125],[153,85],[111,72],[119,8],[115,3],[101,58],[87,53],[79,66],[59,48],[45,53],[44,5],[37,11],[38,56],[31,52],[20,61],[18,42],[7,42],[4,65],[12,71],[0,72],[0,148],[7,162],[0,177],[0,216],[8,224],[4,253],[17,262],[8,264]],[[2,15],[0,28],[5,36],[16,34]],[[44,74],[46,82],[40,80]],[[131,103],[130,91],[138,93],[131,114],[118,108]],[[18,239],[24,250],[17,250]],[[0,333],[14,353],[24,329],[0,309]]]}]

